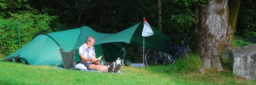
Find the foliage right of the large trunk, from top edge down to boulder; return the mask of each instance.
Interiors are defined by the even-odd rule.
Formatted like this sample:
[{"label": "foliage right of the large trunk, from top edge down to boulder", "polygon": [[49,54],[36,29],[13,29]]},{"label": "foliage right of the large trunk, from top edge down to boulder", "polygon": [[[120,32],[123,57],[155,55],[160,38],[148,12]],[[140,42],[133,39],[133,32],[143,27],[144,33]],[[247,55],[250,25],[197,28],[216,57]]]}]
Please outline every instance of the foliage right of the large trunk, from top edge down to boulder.
[{"label": "foliage right of the large trunk, from top edge down to boulder", "polygon": [[256,43],[256,0],[241,0],[235,31],[235,46]]}]

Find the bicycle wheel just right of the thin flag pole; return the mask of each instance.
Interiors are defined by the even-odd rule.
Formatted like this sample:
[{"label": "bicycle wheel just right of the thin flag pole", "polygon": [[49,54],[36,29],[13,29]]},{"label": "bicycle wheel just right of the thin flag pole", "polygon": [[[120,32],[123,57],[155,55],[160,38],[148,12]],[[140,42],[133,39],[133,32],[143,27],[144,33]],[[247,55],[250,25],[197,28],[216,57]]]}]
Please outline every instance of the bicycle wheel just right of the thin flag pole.
[{"label": "bicycle wheel just right of the thin flag pole", "polygon": [[145,55],[145,62],[146,65],[149,66],[151,64],[154,64],[154,58],[156,56],[156,51],[155,50],[148,50],[146,55]]}]

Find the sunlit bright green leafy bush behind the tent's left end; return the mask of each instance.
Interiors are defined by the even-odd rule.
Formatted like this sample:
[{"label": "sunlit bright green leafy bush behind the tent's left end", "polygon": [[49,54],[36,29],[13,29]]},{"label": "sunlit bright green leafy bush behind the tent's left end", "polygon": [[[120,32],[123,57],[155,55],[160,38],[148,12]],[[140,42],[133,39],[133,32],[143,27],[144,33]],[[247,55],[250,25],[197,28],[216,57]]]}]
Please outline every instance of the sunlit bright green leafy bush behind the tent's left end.
[{"label": "sunlit bright green leafy bush behind the tent's left end", "polygon": [[20,29],[20,46],[30,42],[38,33],[52,32],[48,24],[55,16],[38,14],[35,11],[23,11],[12,14],[10,18],[0,18],[0,52],[9,55],[19,49],[18,21]]}]

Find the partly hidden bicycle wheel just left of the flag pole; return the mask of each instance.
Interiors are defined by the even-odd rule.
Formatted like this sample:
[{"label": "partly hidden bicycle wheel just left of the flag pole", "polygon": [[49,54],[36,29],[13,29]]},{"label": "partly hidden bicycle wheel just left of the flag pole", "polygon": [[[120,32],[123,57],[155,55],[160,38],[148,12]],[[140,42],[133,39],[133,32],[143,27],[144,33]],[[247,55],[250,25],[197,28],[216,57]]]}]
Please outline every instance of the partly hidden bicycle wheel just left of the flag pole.
[{"label": "partly hidden bicycle wheel just left of the flag pole", "polygon": [[[144,49],[144,52],[146,52],[146,49]],[[134,63],[135,64],[143,63],[143,49],[138,50],[138,52],[134,56]]]}]

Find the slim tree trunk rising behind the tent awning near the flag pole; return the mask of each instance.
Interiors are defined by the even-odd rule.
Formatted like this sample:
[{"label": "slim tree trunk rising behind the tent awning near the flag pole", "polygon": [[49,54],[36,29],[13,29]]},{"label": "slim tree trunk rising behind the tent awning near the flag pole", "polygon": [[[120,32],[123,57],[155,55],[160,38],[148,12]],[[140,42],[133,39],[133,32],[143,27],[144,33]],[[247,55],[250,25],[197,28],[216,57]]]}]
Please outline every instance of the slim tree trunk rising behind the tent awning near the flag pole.
[{"label": "slim tree trunk rising behind the tent awning near the flag pole", "polygon": [[161,0],[157,0],[158,7],[158,30],[162,32],[162,10],[161,10]]}]

